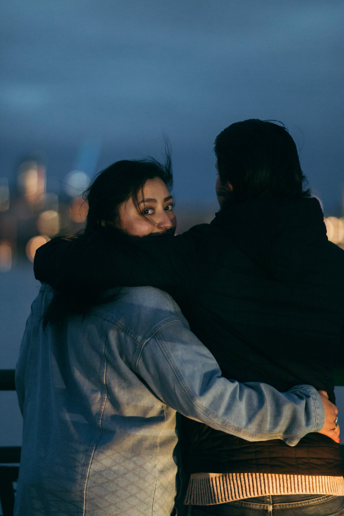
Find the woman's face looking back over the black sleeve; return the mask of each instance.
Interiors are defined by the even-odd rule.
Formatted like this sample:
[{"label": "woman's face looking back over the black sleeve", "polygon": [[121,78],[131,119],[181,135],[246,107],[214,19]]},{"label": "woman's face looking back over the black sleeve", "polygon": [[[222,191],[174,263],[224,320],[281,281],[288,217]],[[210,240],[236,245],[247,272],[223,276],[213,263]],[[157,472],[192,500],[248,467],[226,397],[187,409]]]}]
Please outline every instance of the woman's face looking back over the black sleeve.
[{"label": "woman's face looking back over the black sleeve", "polygon": [[145,182],[143,191],[139,192],[138,202],[140,213],[131,197],[120,205],[118,226],[122,231],[128,235],[147,236],[175,228],[173,198],[160,178]]}]

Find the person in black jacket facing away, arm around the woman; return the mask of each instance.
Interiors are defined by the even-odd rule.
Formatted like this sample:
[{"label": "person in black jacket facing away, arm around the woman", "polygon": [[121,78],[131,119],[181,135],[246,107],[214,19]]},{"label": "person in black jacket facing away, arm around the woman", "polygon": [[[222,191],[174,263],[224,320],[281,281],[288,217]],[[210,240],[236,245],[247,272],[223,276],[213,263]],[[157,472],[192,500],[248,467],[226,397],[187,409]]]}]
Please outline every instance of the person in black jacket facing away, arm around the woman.
[{"label": "person in black jacket facing away, arm around the woman", "polygon": [[[38,250],[36,275],[65,293],[85,284],[163,288],[226,378],[279,391],[309,383],[334,401],[344,251],[327,240],[319,202],[303,190],[296,146],[284,127],[253,119],[222,131],[215,153],[221,209],[210,224],[152,244],[90,236],[81,248],[57,238]],[[339,446],[327,437],[311,432],[289,447],[183,425],[194,514],[344,514]]]}]

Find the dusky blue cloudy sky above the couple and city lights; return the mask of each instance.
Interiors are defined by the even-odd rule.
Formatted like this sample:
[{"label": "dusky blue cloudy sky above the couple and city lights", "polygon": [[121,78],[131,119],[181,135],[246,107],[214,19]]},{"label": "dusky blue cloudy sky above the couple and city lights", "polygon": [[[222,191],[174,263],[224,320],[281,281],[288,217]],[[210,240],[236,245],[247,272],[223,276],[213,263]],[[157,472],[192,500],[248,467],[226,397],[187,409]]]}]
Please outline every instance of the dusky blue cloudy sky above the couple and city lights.
[{"label": "dusky blue cloudy sky above the couple and city lights", "polygon": [[343,13],[341,0],[3,0],[0,176],[14,184],[36,155],[56,190],[75,168],[161,158],[165,135],[177,206],[202,209],[216,135],[277,119],[338,215]]}]

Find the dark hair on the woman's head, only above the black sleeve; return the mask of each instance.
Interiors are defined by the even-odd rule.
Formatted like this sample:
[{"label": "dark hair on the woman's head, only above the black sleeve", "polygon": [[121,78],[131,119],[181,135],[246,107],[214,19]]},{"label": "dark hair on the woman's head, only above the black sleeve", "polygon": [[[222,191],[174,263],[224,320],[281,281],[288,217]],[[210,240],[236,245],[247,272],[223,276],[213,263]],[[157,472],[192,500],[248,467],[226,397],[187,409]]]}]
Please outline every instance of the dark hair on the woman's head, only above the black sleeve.
[{"label": "dark hair on the woman's head, only above the black sleeve", "polygon": [[171,189],[171,153],[166,149],[165,163],[152,157],[122,160],[100,172],[84,192],[88,202],[85,233],[100,229],[101,222],[116,222],[120,205],[130,197],[138,209],[138,195],[149,179],[160,178]]}]

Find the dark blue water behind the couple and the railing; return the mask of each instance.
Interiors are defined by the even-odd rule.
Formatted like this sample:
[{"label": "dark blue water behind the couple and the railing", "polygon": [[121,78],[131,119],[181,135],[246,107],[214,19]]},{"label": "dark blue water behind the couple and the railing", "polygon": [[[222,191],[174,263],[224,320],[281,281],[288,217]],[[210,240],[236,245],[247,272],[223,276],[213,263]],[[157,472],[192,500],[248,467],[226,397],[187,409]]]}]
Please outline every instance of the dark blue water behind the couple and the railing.
[{"label": "dark blue water behind the couple and the railing", "polygon": [[[40,283],[35,280],[32,264],[21,262],[9,272],[0,273],[0,368],[14,369],[25,322]],[[344,386],[336,388],[339,423],[344,414]],[[15,392],[0,392],[0,446],[18,446],[22,441],[22,416]],[[344,428],[344,427],[343,427]]]}]

